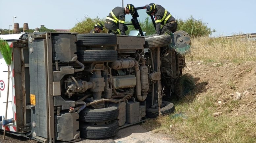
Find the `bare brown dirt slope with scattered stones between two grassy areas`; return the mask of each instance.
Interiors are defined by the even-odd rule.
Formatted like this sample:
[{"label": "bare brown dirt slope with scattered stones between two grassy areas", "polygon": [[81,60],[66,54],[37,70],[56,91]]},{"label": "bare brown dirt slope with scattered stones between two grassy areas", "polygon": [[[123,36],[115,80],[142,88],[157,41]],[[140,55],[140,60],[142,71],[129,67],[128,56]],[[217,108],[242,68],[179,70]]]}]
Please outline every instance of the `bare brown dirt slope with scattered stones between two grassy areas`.
[{"label": "bare brown dirt slope with scattered stones between two grassy areas", "polygon": [[216,112],[256,117],[256,62],[189,62],[184,73],[195,77],[197,91],[216,98]]}]

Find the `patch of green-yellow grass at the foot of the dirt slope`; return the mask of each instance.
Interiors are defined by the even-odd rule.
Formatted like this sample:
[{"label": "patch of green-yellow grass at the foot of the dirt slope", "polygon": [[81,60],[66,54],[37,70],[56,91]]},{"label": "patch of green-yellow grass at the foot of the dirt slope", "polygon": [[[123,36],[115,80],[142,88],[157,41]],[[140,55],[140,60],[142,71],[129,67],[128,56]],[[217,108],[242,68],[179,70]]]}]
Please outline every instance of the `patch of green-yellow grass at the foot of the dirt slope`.
[{"label": "patch of green-yellow grass at the foot of the dirt slope", "polygon": [[[229,116],[225,114],[226,111],[217,110],[216,102],[213,95],[190,97],[175,103],[175,113],[148,120],[143,126],[153,132],[171,134],[183,142],[256,142],[255,119],[249,116]],[[235,106],[239,103],[230,104]],[[223,114],[214,117],[214,112]]]}]

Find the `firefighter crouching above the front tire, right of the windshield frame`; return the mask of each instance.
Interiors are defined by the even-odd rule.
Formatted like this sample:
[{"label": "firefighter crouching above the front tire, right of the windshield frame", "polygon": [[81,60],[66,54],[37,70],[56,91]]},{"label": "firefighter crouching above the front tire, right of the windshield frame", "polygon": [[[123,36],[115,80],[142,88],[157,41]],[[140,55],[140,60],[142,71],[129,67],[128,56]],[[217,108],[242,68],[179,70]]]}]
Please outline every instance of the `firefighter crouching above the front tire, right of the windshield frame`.
[{"label": "firefighter crouching above the front tire, right of the windshield frame", "polygon": [[[149,5],[146,5],[146,13],[148,15],[154,15],[155,22],[156,22],[156,33],[157,34],[164,34],[168,33],[168,31],[171,31],[174,33],[177,31],[177,21],[176,19],[168,12],[166,9],[164,9],[160,5],[156,5],[154,3],[151,3]],[[161,25],[163,27],[161,28]]]}]

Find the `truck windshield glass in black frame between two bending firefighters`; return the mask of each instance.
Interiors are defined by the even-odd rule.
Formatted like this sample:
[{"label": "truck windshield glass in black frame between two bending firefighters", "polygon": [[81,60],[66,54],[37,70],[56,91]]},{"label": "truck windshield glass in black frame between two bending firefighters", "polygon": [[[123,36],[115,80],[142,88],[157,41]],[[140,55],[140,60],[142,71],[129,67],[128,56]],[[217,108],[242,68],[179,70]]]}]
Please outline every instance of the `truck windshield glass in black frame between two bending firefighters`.
[{"label": "truck windshield glass in black frame between two bending firefighters", "polygon": [[[139,21],[139,25],[143,33],[146,33],[145,35],[155,34],[156,33],[155,27],[153,25],[151,17],[146,13],[146,9],[137,9],[137,12],[139,15],[137,19]],[[126,15],[125,19],[126,19],[126,24],[132,24],[131,22],[132,16],[130,14]],[[133,25],[127,25],[127,26],[128,26],[128,30],[126,31],[127,35],[129,35],[130,31],[132,30],[139,31],[139,29],[135,29]],[[132,32],[135,33],[134,31]],[[140,34],[138,34],[138,36],[140,36]]]}]

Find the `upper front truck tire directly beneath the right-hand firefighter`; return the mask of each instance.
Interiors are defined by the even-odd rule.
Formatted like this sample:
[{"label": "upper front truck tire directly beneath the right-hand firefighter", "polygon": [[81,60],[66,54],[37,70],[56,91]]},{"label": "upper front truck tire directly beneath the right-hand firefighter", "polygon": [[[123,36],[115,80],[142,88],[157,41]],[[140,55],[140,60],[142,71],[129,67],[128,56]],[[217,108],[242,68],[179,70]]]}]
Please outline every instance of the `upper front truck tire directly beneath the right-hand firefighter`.
[{"label": "upper front truck tire directly beneath the right-hand firefighter", "polygon": [[164,47],[172,42],[170,35],[152,35],[145,37],[145,48]]}]

